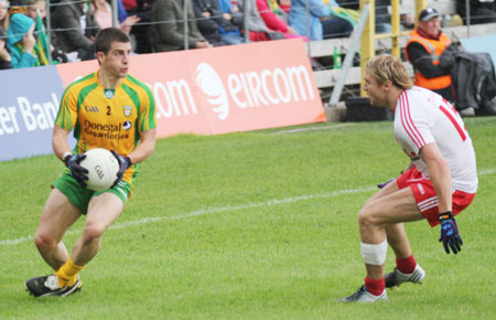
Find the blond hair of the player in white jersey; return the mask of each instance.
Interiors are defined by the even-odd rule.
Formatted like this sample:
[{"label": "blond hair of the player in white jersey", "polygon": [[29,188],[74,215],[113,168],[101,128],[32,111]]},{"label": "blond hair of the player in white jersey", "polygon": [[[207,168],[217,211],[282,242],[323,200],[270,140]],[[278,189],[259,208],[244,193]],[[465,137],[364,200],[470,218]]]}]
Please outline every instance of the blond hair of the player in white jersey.
[{"label": "blond hair of the player in white jersey", "polygon": [[373,57],[367,62],[365,71],[373,75],[379,84],[390,81],[393,86],[401,89],[409,89],[413,86],[403,63],[390,54]]}]

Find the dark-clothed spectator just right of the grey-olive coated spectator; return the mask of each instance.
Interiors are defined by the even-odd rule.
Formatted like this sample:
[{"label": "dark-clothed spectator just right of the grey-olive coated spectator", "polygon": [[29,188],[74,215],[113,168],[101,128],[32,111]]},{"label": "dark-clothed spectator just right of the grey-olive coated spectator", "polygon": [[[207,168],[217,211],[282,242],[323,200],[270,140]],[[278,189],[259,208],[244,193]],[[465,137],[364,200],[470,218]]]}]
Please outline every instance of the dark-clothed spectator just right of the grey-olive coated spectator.
[{"label": "dark-clothed spectator just right of the grey-olive coated spectator", "polygon": [[200,32],[213,45],[242,43],[239,29],[233,24],[229,13],[218,8],[218,0],[193,0]]}]

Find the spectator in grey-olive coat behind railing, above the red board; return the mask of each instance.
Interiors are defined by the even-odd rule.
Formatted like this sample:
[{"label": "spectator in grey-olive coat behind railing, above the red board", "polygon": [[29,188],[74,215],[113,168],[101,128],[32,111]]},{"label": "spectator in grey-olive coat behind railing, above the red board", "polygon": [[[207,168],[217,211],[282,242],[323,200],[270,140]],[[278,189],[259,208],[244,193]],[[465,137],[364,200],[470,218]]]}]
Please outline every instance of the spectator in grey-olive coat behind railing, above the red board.
[{"label": "spectator in grey-olive coat behind railing, above the red board", "polygon": [[191,0],[155,0],[152,7],[151,43],[154,51],[184,50],[184,1],[188,1],[187,41],[190,49],[211,47],[202,35],[193,14]]}]

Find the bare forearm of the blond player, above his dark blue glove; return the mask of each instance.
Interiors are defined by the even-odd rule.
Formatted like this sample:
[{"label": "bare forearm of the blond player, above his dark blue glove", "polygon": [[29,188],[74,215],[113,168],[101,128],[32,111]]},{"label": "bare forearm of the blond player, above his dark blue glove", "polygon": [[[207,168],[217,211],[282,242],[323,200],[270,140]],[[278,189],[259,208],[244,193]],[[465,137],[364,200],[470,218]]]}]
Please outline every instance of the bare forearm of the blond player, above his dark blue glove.
[{"label": "bare forearm of the blond player, above his dark blue glove", "polygon": [[438,143],[431,142],[420,150],[420,158],[429,168],[430,179],[438,194],[439,212],[452,211],[450,166],[444,160]]}]

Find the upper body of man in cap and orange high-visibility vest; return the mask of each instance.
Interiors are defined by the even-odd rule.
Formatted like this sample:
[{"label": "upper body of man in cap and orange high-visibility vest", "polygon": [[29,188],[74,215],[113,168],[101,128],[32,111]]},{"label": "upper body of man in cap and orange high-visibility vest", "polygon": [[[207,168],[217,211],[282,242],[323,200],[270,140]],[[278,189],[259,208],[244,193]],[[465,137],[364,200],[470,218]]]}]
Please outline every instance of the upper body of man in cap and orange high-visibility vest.
[{"label": "upper body of man in cap and orange high-visibility vest", "polygon": [[451,67],[445,67],[440,61],[451,40],[442,32],[439,17],[433,8],[422,10],[418,26],[411,32],[405,51],[407,60],[413,65],[414,84],[453,102]]}]

